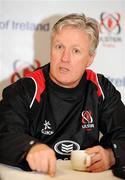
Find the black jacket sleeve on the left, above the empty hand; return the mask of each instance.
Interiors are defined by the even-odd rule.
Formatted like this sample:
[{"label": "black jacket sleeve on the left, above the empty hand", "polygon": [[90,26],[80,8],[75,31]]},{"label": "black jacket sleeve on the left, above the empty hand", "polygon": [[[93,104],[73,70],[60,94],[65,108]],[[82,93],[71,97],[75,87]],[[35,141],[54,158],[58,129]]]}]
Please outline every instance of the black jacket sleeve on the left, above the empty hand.
[{"label": "black jacket sleeve on the left, above the empty hand", "polygon": [[29,104],[35,85],[18,80],[3,91],[0,102],[0,162],[23,168],[24,155],[38,140],[29,133]]}]

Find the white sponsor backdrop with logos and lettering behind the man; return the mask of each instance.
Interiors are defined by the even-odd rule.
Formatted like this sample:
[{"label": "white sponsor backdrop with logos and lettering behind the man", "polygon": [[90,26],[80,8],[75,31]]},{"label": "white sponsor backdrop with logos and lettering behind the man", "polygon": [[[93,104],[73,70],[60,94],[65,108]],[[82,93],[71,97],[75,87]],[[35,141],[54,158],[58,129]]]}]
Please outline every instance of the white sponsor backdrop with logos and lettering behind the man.
[{"label": "white sponsor backdrop with logos and lettering behind the man", "polygon": [[125,103],[125,1],[0,0],[0,98],[4,87],[49,62],[54,22],[85,13],[100,23],[100,45],[91,69],[105,74]]}]

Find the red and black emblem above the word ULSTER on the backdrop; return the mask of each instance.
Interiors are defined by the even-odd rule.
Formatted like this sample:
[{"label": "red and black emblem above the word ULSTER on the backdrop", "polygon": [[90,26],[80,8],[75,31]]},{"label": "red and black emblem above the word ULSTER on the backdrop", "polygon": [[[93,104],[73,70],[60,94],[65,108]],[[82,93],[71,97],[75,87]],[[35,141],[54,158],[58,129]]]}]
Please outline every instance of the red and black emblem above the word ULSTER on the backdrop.
[{"label": "red and black emblem above the word ULSTER on the backdrop", "polygon": [[119,34],[121,32],[119,13],[101,13],[100,15],[100,32]]}]

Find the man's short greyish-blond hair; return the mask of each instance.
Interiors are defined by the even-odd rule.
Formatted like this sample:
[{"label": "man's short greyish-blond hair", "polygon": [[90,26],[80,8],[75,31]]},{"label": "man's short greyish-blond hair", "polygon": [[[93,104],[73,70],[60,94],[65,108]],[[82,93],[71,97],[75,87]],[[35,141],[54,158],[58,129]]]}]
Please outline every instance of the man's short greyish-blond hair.
[{"label": "man's short greyish-blond hair", "polygon": [[77,13],[64,16],[54,24],[52,36],[66,26],[73,26],[86,32],[91,40],[89,53],[93,54],[95,52],[99,44],[99,23],[94,18]]}]

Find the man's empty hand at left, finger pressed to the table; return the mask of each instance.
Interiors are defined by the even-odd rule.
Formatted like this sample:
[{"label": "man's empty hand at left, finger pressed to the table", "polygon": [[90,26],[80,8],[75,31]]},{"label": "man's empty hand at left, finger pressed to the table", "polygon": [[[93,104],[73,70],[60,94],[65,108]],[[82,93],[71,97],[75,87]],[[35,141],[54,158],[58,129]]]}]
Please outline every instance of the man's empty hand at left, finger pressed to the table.
[{"label": "man's empty hand at left, finger pressed to the table", "polygon": [[45,144],[36,144],[28,152],[26,160],[32,170],[54,176],[56,172],[55,152]]}]

